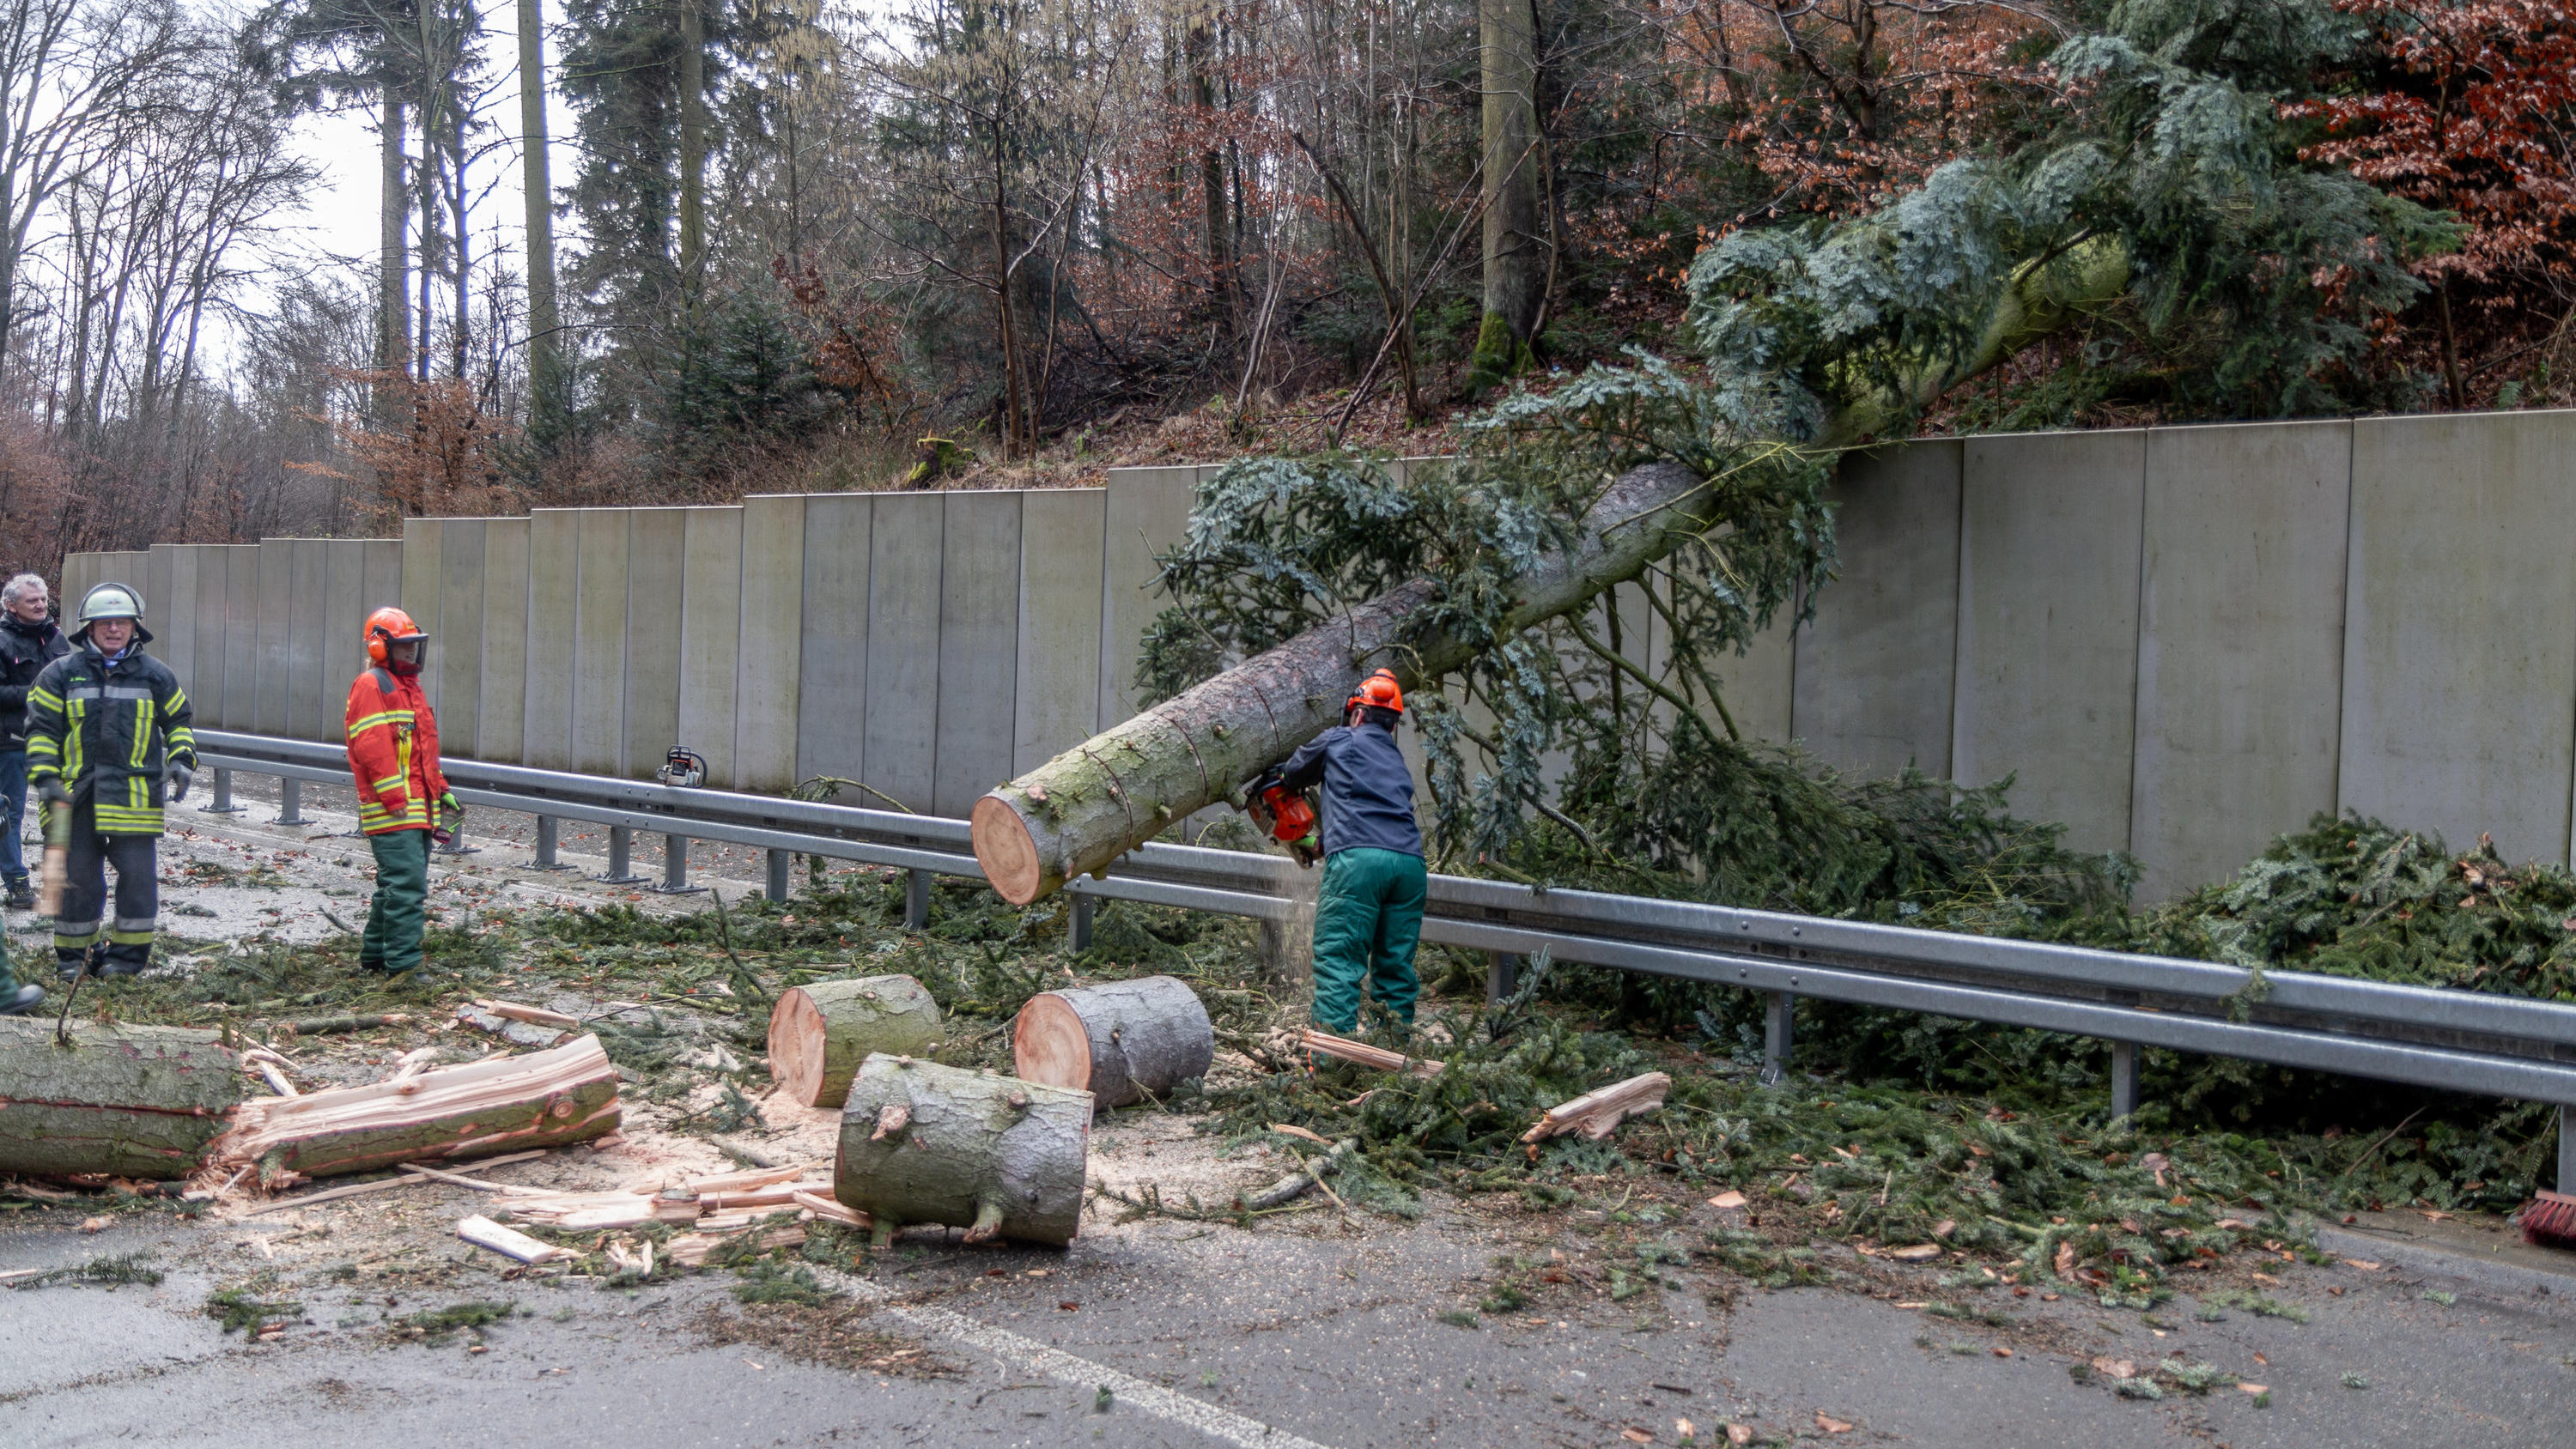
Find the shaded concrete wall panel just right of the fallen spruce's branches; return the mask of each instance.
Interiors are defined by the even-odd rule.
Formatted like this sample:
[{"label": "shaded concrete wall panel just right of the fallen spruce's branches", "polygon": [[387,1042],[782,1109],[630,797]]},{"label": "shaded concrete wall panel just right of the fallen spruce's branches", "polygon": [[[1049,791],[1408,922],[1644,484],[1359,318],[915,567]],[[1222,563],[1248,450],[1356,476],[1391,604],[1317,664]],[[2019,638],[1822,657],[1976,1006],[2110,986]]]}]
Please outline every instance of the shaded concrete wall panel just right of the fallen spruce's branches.
[{"label": "shaded concrete wall panel just right of the fallen spruce's branches", "polygon": [[1942,438],[1842,458],[1842,577],[1798,631],[1793,713],[1793,734],[1837,770],[1950,775],[1960,453]]}]

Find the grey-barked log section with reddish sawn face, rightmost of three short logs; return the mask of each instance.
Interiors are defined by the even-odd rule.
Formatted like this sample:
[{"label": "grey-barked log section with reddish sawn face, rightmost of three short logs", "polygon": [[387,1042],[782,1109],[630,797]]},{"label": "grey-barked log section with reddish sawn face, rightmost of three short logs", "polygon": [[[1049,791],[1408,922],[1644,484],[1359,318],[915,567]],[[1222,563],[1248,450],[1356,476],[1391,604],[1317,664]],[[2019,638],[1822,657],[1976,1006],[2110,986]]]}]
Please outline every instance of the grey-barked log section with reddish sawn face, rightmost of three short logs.
[{"label": "grey-barked log section with reddish sawn face, rightmost of three short logs", "polygon": [[1090,1091],[1126,1107],[1208,1076],[1216,1027],[1198,993],[1170,975],[1041,991],[1010,1035],[1020,1081]]}]

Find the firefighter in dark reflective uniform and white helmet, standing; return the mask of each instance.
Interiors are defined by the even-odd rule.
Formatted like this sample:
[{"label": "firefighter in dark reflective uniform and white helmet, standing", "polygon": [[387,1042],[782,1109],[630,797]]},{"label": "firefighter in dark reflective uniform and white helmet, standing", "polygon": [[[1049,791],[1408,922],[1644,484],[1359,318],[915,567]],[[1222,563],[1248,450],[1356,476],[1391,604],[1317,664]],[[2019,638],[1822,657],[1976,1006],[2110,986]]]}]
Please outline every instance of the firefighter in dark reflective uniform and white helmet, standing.
[{"label": "firefighter in dark reflective uniform and white helmet, standing", "polygon": [[[188,798],[196,731],[188,690],[144,654],[144,600],[98,584],[80,600],[80,649],[44,667],[26,692],[26,772],[44,803],[72,808],[54,965],[64,981],[93,960],[100,975],[137,975],[152,963],[160,924],[162,803]],[[116,919],[98,945],[116,867]]]}]

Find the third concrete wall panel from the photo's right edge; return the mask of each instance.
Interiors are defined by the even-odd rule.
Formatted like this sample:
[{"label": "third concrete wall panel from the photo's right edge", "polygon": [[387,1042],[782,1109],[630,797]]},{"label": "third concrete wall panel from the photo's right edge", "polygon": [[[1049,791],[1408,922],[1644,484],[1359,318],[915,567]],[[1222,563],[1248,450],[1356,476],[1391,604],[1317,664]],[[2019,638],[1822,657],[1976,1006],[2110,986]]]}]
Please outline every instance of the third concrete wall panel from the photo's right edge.
[{"label": "third concrete wall panel from the photo's right edge", "polygon": [[1953,772],[2128,849],[2146,432],[1968,438]]}]

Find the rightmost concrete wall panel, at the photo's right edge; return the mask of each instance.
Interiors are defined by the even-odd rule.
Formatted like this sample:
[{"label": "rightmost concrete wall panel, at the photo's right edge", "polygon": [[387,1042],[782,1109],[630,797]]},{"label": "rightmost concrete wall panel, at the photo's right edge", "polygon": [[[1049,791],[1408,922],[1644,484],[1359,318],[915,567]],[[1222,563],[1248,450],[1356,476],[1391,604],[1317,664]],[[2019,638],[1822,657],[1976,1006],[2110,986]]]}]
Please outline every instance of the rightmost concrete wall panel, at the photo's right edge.
[{"label": "rightmost concrete wall panel, at the photo's right edge", "polygon": [[2566,860],[2576,412],[2352,425],[2336,800]]}]

